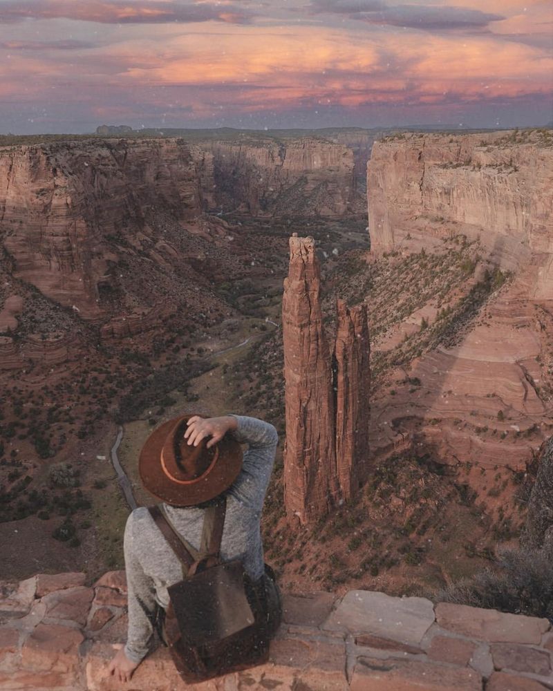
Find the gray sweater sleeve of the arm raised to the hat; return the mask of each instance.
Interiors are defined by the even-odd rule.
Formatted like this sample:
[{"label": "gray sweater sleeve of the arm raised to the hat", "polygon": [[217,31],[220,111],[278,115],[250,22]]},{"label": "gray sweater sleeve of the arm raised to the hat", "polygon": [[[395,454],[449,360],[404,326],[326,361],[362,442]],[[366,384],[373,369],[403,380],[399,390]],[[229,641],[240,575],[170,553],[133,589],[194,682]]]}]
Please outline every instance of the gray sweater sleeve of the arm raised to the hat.
[{"label": "gray sweater sleeve of the arm raised to the hat", "polygon": [[247,444],[248,448],[244,453],[241,473],[229,493],[261,515],[279,435],[272,424],[256,417],[232,417],[238,422],[238,428],[231,433],[232,437],[241,444]]}]

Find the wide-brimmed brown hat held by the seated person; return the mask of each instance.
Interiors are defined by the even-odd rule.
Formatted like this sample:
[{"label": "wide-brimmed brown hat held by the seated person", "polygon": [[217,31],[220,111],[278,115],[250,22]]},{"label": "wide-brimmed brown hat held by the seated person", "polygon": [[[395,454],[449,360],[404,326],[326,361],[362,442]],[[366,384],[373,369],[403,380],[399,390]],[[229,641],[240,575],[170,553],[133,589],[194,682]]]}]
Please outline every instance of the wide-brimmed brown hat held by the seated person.
[{"label": "wide-brimmed brown hat held by the seated person", "polygon": [[146,439],[138,460],[144,489],[175,507],[213,499],[232,485],[242,467],[242,448],[228,435],[211,448],[206,448],[209,437],[198,446],[187,443],[187,421],[194,415],[160,424]]}]

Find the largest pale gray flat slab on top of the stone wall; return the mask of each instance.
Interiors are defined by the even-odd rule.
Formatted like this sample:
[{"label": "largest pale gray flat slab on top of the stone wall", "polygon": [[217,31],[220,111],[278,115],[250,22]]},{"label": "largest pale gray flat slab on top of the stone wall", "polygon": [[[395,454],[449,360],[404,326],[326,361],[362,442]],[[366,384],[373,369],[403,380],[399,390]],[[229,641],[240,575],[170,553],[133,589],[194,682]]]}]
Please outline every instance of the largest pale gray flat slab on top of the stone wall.
[{"label": "largest pale gray flat slab on top of the stone wall", "polygon": [[322,628],[420,645],[433,623],[434,607],[426,598],[394,598],[369,590],[351,590]]}]

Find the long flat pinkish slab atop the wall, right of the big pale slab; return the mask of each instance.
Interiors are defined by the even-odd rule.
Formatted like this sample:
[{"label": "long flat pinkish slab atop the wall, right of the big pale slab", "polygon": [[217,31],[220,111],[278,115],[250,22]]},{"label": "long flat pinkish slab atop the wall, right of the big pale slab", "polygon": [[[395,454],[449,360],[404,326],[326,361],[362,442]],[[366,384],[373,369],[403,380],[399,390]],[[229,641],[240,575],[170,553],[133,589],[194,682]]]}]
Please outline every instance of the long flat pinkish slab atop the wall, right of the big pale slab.
[{"label": "long flat pinkish slab atop the wall, right of the big pale slab", "polygon": [[539,644],[550,628],[547,619],[451,603],[436,605],[436,620],[444,629],[489,643]]}]

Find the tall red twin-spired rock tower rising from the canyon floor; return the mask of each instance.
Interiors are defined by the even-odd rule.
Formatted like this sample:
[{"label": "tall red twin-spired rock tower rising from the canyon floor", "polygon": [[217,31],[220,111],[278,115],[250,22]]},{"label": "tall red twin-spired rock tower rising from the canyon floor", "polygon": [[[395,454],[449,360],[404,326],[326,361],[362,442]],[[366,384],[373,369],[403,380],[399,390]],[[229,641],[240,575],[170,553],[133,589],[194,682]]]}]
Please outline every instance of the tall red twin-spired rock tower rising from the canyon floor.
[{"label": "tall red twin-spired rock tower rising from the canyon floor", "polygon": [[[368,468],[369,343],[366,305],[337,305],[332,359],[322,323],[313,238],[290,238],[282,330],[286,440],[284,503],[301,523],[350,498]],[[332,372],[335,361],[335,376]]]}]

